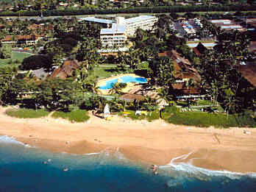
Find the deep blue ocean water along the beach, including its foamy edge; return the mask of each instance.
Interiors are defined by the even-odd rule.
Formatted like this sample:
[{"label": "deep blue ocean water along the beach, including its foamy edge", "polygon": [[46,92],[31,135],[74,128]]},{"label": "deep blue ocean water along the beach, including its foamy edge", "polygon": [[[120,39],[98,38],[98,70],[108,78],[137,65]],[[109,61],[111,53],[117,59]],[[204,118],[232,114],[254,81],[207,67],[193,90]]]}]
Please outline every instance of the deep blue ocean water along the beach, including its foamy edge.
[{"label": "deep blue ocean water along the beach, including its foamy edge", "polygon": [[127,160],[118,150],[51,153],[0,136],[0,192],[256,191],[254,173],[210,171],[174,160],[154,175],[149,166]]}]

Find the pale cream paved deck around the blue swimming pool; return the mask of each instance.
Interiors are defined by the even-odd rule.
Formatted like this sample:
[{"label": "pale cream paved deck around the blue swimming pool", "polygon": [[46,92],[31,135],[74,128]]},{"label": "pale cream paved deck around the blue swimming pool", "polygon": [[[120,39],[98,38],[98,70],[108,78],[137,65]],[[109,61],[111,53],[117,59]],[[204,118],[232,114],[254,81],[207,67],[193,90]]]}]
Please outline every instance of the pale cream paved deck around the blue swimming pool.
[{"label": "pale cream paved deck around the blue swimming pool", "polygon": [[[136,74],[120,74],[120,75],[117,75],[117,76],[107,77],[105,79],[99,80],[99,82],[97,83],[97,86],[98,87],[104,86],[104,85],[106,85],[106,82],[109,81],[109,80],[118,79],[120,77],[126,77],[126,76],[129,76],[129,77],[141,77],[141,76],[138,76]],[[118,79],[118,82],[120,82],[120,79]],[[124,93],[128,93],[129,90],[131,90],[134,86],[135,86],[134,82],[127,82],[127,88],[122,89],[122,91]],[[102,94],[109,94],[109,91],[110,91],[110,89],[99,89],[99,93],[102,93]]]}]

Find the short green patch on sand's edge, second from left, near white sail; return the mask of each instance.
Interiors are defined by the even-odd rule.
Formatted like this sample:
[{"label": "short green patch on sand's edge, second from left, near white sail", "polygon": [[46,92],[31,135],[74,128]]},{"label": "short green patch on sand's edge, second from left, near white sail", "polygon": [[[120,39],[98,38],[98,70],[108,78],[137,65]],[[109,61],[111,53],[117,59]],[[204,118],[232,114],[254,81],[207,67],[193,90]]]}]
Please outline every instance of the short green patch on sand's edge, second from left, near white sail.
[{"label": "short green patch on sand's edge, second from left, near white sail", "polygon": [[90,118],[87,110],[72,110],[71,112],[56,111],[51,117],[65,118],[68,121],[85,122]]}]

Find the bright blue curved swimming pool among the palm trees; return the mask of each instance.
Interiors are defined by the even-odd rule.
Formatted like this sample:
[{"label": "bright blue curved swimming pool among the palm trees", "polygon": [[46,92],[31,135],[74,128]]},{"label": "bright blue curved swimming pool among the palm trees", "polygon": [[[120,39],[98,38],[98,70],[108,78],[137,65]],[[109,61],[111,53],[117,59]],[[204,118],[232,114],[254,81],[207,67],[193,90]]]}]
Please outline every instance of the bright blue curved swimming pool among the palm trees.
[{"label": "bright blue curved swimming pool among the palm trees", "polygon": [[143,77],[132,77],[132,76],[123,76],[123,77],[118,77],[118,78],[115,78],[115,79],[111,79],[111,80],[108,80],[106,81],[106,85],[102,85],[99,87],[99,89],[111,89],[113,88],[113,85],[118,82],[118,79],[119,79],[119,82],[138,82],[138,83],[145,83],[146,82],[146,78],[143,78]]}]

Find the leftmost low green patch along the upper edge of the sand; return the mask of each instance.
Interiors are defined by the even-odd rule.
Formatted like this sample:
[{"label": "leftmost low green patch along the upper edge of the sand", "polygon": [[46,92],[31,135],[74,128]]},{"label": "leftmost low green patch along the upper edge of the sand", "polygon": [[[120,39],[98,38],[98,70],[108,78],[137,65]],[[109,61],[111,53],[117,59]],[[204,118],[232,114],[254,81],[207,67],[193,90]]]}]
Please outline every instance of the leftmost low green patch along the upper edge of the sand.
[{"label": "leftmost low green patch along the upper edge of the sand", "polygon": [[15,118],[40,118],[49,114],[46,110],[9,109],[6,114]]}]

